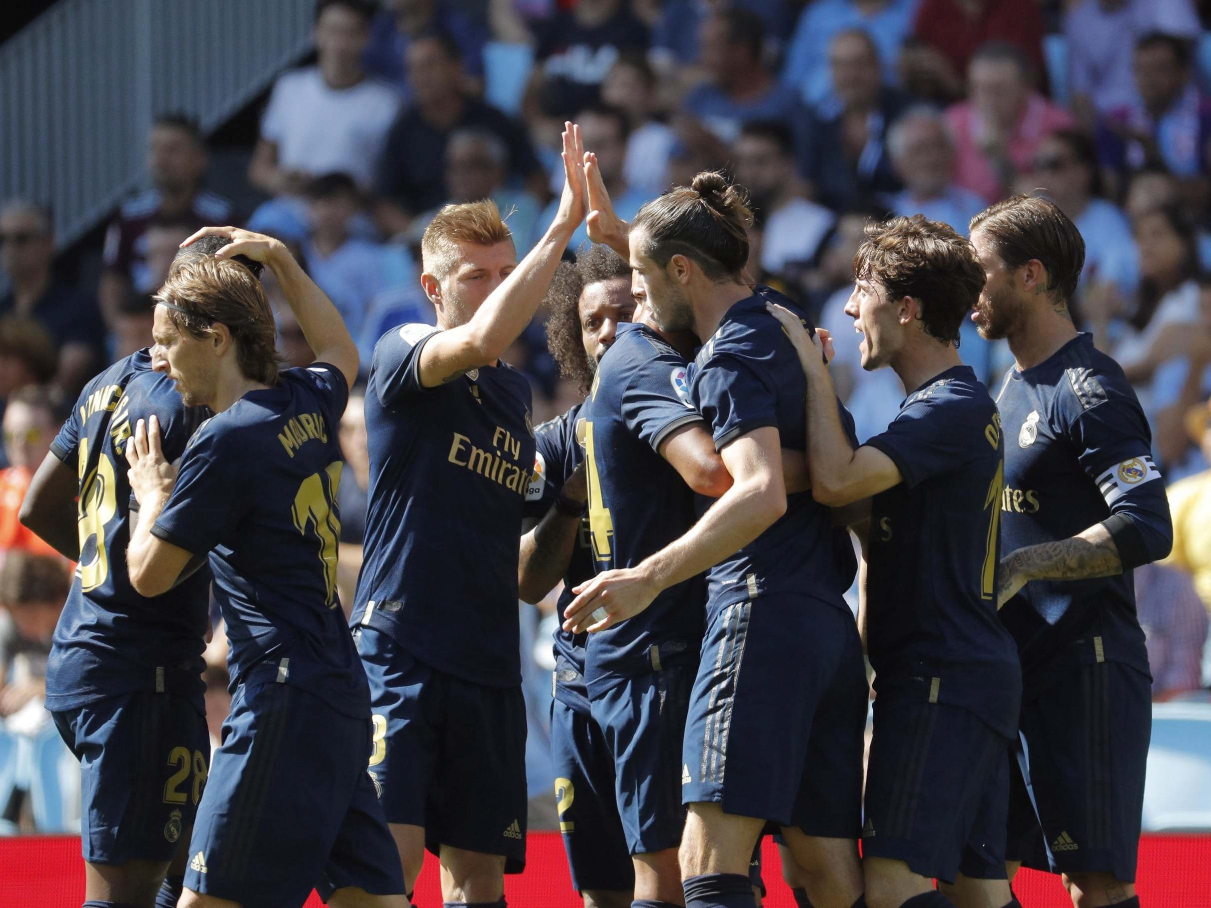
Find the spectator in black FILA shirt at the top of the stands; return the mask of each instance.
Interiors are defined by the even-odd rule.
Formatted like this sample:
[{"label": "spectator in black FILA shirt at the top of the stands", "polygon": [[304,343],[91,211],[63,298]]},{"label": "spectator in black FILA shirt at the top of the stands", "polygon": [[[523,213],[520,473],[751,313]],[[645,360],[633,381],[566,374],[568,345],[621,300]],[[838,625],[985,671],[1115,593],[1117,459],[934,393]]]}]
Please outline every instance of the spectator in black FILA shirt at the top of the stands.
[{"label": "spectator in black FILA shirt at the top of the stands", "polygon": [[534,24],[535,76],[561,119],[596,104],[622,51],[648,48],[648,27],[622,0],[579,0]]}]

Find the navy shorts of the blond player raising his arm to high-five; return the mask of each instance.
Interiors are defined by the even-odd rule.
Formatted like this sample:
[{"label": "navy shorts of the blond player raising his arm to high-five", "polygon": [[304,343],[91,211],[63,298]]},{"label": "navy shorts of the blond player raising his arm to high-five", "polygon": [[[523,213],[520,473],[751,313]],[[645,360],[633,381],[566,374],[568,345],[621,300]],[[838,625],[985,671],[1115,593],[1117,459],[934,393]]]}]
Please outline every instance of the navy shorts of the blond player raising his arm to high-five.
[{"label": "navy shorts of the blond player raising his arm to high-five", "polygon": [[371,775],[389,823],[419,826],[442,845],[526,867],[526,701],[430,668],[373,627],[355,631],[371,683]]}]

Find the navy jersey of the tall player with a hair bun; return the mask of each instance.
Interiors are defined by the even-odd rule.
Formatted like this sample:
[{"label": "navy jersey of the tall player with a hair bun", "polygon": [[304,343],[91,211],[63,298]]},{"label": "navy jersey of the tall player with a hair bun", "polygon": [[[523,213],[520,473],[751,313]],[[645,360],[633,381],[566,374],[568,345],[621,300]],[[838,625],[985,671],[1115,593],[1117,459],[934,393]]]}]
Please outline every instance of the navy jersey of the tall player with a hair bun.
[{"label": "navy jersey of the tall player with a hair bun", "polygon": [[[756,287],[752,297],[727,311],[689,370],[690,398],[710,425],[716,448],[774,426],[781,447],[807,450],[807,377],[767,303],[786,306],[815,331],[798,303],[769,287]],[[854,419],[837,406],[857,447]],[[699,501],[701,510],[710,505],[711,499]],[[707,571],[710,608],[762,593],[798,593],[845,609],[842,596],[855,570],[849,534],[832,525],[830,510],[810,492],[788,494],[786,513],[773,527]]]}]

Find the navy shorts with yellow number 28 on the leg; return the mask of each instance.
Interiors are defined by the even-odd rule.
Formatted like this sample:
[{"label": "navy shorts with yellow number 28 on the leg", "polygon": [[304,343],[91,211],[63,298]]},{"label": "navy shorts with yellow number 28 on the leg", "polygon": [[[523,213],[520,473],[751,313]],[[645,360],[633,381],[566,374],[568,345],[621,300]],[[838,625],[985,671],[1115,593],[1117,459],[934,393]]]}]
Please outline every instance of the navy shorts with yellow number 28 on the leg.
[{"label": "navy shorts with yellow number 28 on the leg", "polygon": [[124,694],[52,713],[80,760],[81,845],[94,864],[171,861],[211,763],[201,702]]}]

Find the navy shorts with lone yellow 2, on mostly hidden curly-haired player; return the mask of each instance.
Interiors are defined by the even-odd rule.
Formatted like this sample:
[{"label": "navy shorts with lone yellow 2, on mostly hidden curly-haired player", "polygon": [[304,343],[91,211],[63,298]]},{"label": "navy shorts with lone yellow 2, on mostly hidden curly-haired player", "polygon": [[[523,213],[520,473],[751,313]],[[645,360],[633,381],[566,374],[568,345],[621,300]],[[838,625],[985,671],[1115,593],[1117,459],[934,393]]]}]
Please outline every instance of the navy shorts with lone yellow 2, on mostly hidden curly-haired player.
[{"label": "navy shorts with lone yellow 2, on mostly hidden curly-haired player", "polygon": [[559,832],[578,892],[635,889],[614,795],[614,758],[587,712],[551,701],[551,763]]}]

